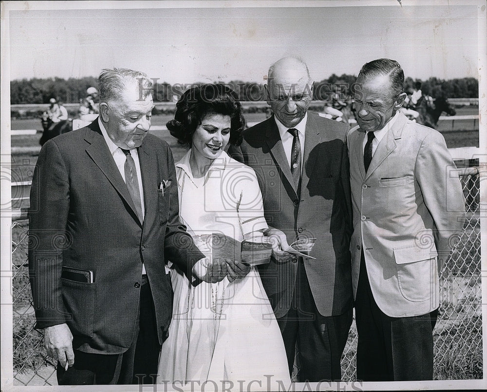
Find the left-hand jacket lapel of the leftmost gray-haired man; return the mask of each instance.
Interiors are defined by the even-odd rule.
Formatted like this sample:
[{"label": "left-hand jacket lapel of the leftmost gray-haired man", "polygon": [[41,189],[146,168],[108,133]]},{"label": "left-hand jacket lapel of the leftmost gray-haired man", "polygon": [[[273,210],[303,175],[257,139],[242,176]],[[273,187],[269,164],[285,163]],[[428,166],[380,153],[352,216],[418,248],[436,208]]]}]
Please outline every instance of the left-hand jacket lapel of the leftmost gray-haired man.
[{"label": "left-hand jacket lapel of the leftmost gray-haired man", "polygon": [[[135,212],[135,206],[133,205],[129,190],[127,189],[127,185],[125,185],[125,182],[118,171],[117,165],[110,154],[110,149],[103,138],[98,125],[98,120],[89,125],[89,130],[86,131],[85,141],[89,144],[86,147],[86,152],[88,155],[103,172],[105,177],[108,178],[113,188],[115,188],[118,194],[129,205],[134,216],[136,217],[137,213]],[[139,222],[139,224],[142,226],[142,223],[138,218],[137,222]]]}]

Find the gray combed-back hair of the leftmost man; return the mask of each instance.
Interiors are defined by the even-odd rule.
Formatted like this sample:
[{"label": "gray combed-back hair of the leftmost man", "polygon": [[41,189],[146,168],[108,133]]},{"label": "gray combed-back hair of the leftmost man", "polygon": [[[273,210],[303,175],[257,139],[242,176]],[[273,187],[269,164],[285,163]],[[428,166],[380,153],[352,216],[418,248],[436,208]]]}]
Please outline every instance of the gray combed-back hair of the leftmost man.
[{"label": "gray combed-back hair of the leftmost man", "polygon": [[104,69],[98,76],[98,89],[100,91],[100,102],[107,102],[122,99],[123,90],[128,83],[137,81],[138,96],[145,100],[152,94],[152,81],[147,74],[140,71],[133,71],[127,68]]}]

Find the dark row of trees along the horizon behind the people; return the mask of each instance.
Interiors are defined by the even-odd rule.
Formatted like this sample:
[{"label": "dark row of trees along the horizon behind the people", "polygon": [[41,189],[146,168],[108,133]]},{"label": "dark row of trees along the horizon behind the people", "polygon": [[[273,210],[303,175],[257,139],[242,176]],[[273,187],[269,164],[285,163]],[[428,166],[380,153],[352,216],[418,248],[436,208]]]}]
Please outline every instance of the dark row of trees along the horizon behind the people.
[{"label": "dark row of trees along the horizon behind the people", "polygon": [[[337,91],[341,99],[346,99],[352,94],[352,86],[356,76],[332,74],[329,78],[315,82],[313,98],[321,101],[328,101],[331,94]],[[415,82],[422,83],[422,91],[433,97],[439,93],[445,94],[447,98],[478,98],[479,82],[475,78],[461,78],[442,80],[431,77],[428,80],[406,78],[406,87],[413,87]],[[181,94],[194,84],[169,84],[160,83],[154,80],[154,101],[170,102],[177,100]],[[231,81],[227,83],[238,94],[241,101],[265,101],[263,84],[244,81]],[[50,98],[57,98],[64,103],[78,103],[86,96],[88,87],[97,87],[95,77],[83,78],[45,78],[45,79],[22,79],[10,82],[10,101],[16,104],[47,104]]]}]

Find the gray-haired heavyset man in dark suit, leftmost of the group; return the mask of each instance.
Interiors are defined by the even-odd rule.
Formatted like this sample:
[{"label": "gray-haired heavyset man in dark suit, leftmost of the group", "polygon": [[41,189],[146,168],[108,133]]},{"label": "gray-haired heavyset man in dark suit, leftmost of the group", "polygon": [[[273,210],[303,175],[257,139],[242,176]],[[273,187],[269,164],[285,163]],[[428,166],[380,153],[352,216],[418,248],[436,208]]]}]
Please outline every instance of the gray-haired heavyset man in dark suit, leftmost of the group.
[{"label": "gray-haired heavyset man in dark suit, leftmost of the group", "polygon": [[171,320],[167,261],[189,279],[223,276],[212,275],[178,220],[172,154],[148,134],[150,79],[115,69],[98,82],[99,118],[46,143],[34,172],[37,328],[59,362],[59,384],[152,383]]}]

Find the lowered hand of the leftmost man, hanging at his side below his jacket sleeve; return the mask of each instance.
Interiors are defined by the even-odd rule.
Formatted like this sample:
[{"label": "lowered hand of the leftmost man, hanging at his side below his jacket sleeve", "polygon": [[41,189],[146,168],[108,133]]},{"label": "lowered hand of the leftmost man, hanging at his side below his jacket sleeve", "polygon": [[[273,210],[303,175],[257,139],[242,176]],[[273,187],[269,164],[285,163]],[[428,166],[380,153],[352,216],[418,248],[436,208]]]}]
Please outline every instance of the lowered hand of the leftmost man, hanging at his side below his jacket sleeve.
[{"label": "lowered hand of the leftmost man, hanging at his side below his jacket sleeve", "polygon": [[66,368],[66,358],[69,366],[75,363],[75,353],[73,352],[73,335],[69,330],[68,324],[58,324],[44,329],[44,345],[47,353],[54,360]]}]

